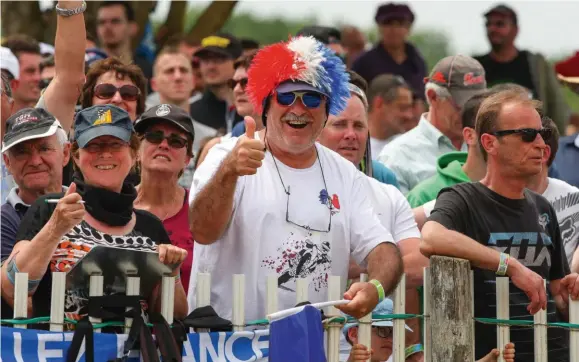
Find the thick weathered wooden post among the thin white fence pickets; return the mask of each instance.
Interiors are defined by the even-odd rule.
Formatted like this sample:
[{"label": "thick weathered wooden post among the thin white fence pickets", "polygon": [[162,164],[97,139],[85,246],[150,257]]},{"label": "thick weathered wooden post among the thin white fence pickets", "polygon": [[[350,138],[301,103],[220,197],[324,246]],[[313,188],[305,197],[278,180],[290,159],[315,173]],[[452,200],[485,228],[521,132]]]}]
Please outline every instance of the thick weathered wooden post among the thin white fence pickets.
[{"label": "thick weathered wooden post among the thin white fence pickets", "polygon": [[432,362],[474,361],[470,275],[468,260],[430,258]]}]

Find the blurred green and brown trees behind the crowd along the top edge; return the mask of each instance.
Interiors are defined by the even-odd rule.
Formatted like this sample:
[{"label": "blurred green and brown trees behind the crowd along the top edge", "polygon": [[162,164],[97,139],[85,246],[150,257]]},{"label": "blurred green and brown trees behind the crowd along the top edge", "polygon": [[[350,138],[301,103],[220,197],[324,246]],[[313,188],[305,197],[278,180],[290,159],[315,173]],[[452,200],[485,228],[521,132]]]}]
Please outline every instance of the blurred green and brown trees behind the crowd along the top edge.
[{"label": "blurred green and brown trees behind the crowd along the top edge", "polygon": [[[158,45],[162,44],[171,33],[182,31],[191,38],[200,39],[215,32],[218,29],[232,33],[237,37],[251,38],[260,44],[266,45],[280,40],[286,40],[291,34],[295,34],[305,25],[318,23],[315,15],[302,19],[284,17],[262,18],[247,12],[235,11],[238,1],[213,1],[208,7],[188,7],[185,2],[173,1],[167,19],[163,23],[153,23],[157,34]],[[88,1],[86,13],[87,27],[94,33],[95,12],[98,1]],[[137,22],[140,29],[148,21],[149,11],[154,7],[155,1],[134,1],[137,14]],[[38,2],[34,1],[2,1],[2,36],[16,32],[23,32],[34,36],[40,41],[54,42],[56,21],[52,9],[42,12]],[[10,20],[7,20],[10,19]],[[345,24],[336,24],[340,27]],[[374,24],[369,24],[363,29],[368,40],[372,43],[377,41],[378,35]],[[429,68],[432,68],[438,60],[452,54],[448,34],[438,29],[414,29],[410,41],[422,53]],[[136,44],[135,44],[136,45]],[[550,59],[552,63],[566,55]],[[568,104],[579,112],[579,96],[564,90]]]}]

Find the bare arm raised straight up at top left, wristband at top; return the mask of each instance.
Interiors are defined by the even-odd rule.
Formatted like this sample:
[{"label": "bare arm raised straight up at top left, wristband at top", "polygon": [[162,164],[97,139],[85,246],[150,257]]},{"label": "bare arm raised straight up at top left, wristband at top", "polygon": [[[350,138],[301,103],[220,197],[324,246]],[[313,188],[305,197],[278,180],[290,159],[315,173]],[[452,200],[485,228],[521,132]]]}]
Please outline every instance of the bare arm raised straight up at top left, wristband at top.
[{"label": "bare arm raised straight up at top left, wristband at top", "polygon": [[[61,9],[78,9],[83,1],[59,1]],[[84,76],[86,29],[84,14],[57,15],[55,39],[55,76],[44,91],[44,107],[52,113],[68,132],[72,126],[74,109]]]}]

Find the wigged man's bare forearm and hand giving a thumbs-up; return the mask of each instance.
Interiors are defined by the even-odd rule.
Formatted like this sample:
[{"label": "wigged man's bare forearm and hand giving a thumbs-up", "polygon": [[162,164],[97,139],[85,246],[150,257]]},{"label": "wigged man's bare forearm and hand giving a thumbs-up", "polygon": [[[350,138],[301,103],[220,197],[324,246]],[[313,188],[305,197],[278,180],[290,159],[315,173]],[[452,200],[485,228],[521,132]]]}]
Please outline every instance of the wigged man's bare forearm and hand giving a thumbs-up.
[{"label": "wigged man's bare forearm and hand giving a thumbs-up", "polygon": [[255,174],[265,157],[264,143],[254,139],[255,121],[246,117],[245,122],[246,134],[239,137],[233,150],[195,196],[189,210],[191,233],[200,244],[212,244],[223,234],[233,211],[237,180],[240,176]]}]

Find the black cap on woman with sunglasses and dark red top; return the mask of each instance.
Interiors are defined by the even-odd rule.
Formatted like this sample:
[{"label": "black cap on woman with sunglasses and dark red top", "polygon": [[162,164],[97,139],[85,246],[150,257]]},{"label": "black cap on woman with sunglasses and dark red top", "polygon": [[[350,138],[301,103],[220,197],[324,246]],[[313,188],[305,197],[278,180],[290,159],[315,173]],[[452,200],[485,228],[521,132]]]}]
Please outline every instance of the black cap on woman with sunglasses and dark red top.
[{"label": "black cap on woman with sunglasses and dark red top", "polygon": [[168,122],[175,125],[191,136],[192,140],[195,140],[193,119],[183,109],[171,104],[159,104],[147,109],[135,122],[135,130],[138,133],[145,133],[147,128],[157,122]]}]

